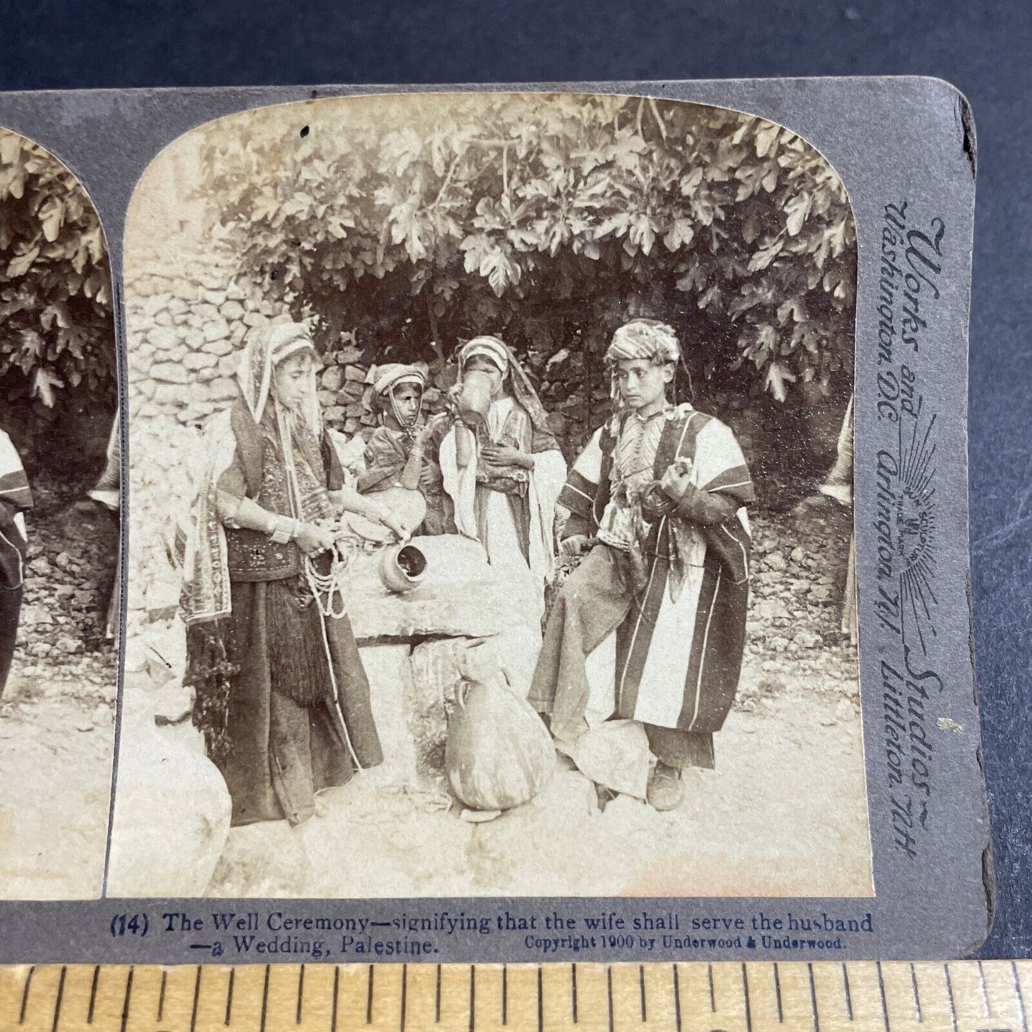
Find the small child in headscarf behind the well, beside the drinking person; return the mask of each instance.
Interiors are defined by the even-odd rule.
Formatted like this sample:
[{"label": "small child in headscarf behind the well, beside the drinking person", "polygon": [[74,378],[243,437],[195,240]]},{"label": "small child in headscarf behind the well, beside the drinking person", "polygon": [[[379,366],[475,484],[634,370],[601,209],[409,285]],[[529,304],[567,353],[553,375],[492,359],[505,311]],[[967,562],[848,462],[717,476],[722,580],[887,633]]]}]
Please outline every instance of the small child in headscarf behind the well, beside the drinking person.
[{"label": "small child in headscarf behind the well, beside the drinking person", "polygon": [[422,418],[426,374],[418,365],[392,363],[374,370],[373,405],[380,416],[365,446],[365,471],[357,487],[362,494],[391,487],[418,490],[426,499],[426,516],[417,534],[453,533],[450,499],[442,486],[438,450],[447,416]]}]

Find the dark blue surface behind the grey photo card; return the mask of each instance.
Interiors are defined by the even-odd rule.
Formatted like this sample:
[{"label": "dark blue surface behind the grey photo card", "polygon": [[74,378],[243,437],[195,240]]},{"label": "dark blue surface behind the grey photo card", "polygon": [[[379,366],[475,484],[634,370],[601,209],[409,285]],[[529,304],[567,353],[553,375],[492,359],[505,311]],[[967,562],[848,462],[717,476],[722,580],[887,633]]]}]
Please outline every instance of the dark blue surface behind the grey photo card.
[{"label": "dark blue surface behind the grey photo card", "polygon": [[999,888],[985,955],[1032,955],[1032,3],[24,0],[0,5],[0,42],[7,90],[882,74],[958,86],[978,136],[971,552]]}]

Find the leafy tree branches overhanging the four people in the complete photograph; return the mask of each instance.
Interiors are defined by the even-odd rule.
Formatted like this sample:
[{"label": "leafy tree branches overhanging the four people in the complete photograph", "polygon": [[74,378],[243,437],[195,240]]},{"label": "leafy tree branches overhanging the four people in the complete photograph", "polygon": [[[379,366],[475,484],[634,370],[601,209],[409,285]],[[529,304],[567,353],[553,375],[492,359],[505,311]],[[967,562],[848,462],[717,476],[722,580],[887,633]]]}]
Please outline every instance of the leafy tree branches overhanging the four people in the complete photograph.
[{"label": "leafy tree branches overhanging the four people in the complete photograph", "polygon": [[[318,316],[328,347],[364,327],[406,359],[431,335],[450,347],[488,329],[519,348],[529,321],[561,311],[601,351],[633,311],[686,331],[702,320],[709,366],[751,368],[779,400],[850,374],[845,191],[781,126],[607,95],[380,97],[305,117],[302,143],[260,112],[235,136],[220,124],[205,186],[248,278],[282,267],[292,241],[303,260],[270,289]],[[557,401],[582,387],[562,383],[549,381]]]}]

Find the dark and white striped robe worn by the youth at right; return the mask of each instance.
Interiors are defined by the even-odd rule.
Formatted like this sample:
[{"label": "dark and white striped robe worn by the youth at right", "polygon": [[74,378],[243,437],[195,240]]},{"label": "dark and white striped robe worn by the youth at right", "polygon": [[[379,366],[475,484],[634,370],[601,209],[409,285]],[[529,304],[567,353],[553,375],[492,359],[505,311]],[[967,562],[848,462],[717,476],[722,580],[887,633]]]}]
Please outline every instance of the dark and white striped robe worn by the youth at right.
[{"label": "dark and white striped robe worn by the youth at right", "polygon": [[[574,464],[559,496],[559,505],[571,513],[566,537],[596,531],[609,501],[615,444],[604,427]],[[745,504],[754,497],[752,482],[731,430],[686,405],[667,415],[654,479],[679,457],[691,460],[691,484],[702,498],[697,510],[706,508],[707,495],[723,498],[731,505],[716,508],[729,518],[695,522],[671,504],[673,511],[654,520],[640,543],[644,586],[636,590],[623,576],[627,586],[622,610],[619,600],[614,604],[613,588],[620,577],[607,571],[628,570],[626,553],[596,546],[610,553],[609,561],[592,552],[571,575],[562,589],[565,606],[553,618],[565,621],[566,632],[580,636],[584,677],[573,676],[569,666],[563,669],[569,664],[569,647],[560,638],[563,628],[550,626],[531,689],[531,702],[552,714],[557,737],[572,739],[582,733],[592,710],[596,719],[616,716],[711,735],[731,709],[745,644],[750,548]],[[592,576],[600,585],[595,605]],[[576,612],[570,612],[571,606]],[[589,691],[583,688],[585,677]]]}]

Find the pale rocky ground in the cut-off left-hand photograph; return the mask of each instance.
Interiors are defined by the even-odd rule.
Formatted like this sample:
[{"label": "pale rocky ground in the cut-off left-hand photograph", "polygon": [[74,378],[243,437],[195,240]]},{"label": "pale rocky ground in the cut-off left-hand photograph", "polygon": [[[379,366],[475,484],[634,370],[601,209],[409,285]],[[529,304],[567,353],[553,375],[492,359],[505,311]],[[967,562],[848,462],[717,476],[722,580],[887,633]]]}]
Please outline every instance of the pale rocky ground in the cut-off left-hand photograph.
[{"label": "pale rocky ground in the cut-off left-hand photograph", "polygon": [[103,628],[115,518],[82,484],[33,478],[19,647],[0,702],[0,897],[99,894],[115,731]]}]

